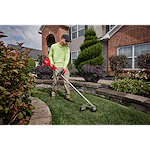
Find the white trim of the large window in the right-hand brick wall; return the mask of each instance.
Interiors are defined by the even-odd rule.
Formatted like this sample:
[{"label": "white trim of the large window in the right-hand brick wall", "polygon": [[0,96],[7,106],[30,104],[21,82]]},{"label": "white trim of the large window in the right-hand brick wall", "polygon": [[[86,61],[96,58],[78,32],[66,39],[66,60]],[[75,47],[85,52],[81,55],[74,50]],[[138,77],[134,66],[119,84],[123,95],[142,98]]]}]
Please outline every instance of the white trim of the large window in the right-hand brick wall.
[{"label": "white trim of the large window in the right-hand brick wall", "polygon": [[140,44],[134,44],[134,45],[126,45],[126,46],[120,46],[120,47],[117,48],[117,56],[118,56],[118,54],[119,54],[119,52],[118,52],[119,48],[132,46],[132,57],[127,57],[127,58],[132,58],[132,68],[125,68],[123,70],[140,70],[140,68],[134,68],[134,66],[135,66],[135,61],[134,60],[135,60],[135,58],[137,58],[137,56],[134,56],[134,48],[135,48],[135,46],[142,45],[142,44],[150,44],[150,43],[148,42],[148,43],[140,43]]}]

